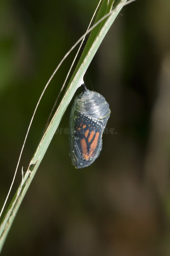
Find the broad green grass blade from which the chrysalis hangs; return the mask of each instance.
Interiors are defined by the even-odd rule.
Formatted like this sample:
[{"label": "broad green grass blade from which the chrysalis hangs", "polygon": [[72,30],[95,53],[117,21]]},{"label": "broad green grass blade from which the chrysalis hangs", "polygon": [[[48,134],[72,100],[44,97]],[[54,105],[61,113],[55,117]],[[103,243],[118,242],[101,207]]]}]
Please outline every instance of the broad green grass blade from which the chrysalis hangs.
[{"label": "broad green grass blade from which the chrysalis hangs", "polygon": [[[55,112],[47,130],[45,131],[45,134],[42,137],[42,140],[40,141],[40,144],[38,145],[38,148],[36,149],[36,152],[30,161],[29,168],[26,171],[24,175],[24,179],[22,182],[22,187],[18,188],[16,191],[13,200],[11,201],[9,208],[7,210],[7,213],[5,214],[3,221],[1,223],[0,227],[0,252],[2,250],[3,244],[5,242],[5,239],[7,237],[7,234],[11,228],[11,225],[13,223],[13,220],[16,216],[16,213],[20,207],[20,204],[24,198],[24,195],[26,194],[26,191],[28,190],[28,187],[30,186],[30,183],[38,169],[38,166],[40,165],[43,156],[45,155],[45,152],[47,151],[47,148],[55,134],[55,131],[57,127],[59,126],[59,123],[61,121],[61,118],[63,117],[65,110],[67,109],[67,106],[69,105],[72,97],[74,96],[74,93],[76,92],[77,88],[82,84],[83,76],[86,73],[86,70],[88,66],[90,65],[90,62],[92,61],[96,51],[98,50],[103,38],[107,34],[110,26],[113,24],[115,18],[123,8],[123,5],[126,3],[127,0],[103,0],[100,10],[98,12],[96,22],[102,18],[105,14],[109,13],[112,9],[112,6],[114,7],[114,11],[111,13],[111,15],[103,20],[100,24],[98,24],[91,32],[89,39],[87,41],[87,44],[84,48],[84,51],[80,57],[80,60],[78,62],[78,65],[76,66],[76,69],[71,77],[71,80],[69,82],[69,85],[67,86],[67,90],[63,96],[63,99],[61,100],[59,107],[57,108],[57,111]],[[109,2],[109,3],[108,3]],[[114,3],[113,3],[114,2]],[[18,195],[18,191],[20,191]]]}]

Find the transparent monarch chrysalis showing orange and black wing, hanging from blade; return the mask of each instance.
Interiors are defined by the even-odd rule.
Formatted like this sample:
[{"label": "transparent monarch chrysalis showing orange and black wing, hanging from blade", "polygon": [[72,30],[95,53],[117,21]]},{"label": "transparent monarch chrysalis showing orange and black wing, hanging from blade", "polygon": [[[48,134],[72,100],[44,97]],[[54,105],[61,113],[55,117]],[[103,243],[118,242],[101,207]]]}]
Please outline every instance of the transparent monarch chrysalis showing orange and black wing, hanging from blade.
[{"label": "transparent monarch chrysalis showing orange and black wing, hanging from blade", "polygon": [[98,92],[86,89],[76,96],[69,120],[69,144],[75,168],[89,166],[98,158],[102,134],[110,116],[109,104]]}]

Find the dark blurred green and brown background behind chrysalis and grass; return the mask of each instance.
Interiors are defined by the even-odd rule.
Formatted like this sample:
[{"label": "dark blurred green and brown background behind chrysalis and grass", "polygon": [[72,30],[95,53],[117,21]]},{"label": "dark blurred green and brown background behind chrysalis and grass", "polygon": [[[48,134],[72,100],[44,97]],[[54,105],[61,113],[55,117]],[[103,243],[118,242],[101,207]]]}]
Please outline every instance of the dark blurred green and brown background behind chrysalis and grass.
[{"label": "dark blurred green and brown background behind chrysalis and grass", "polygon": [[[0,205],[9,190],[38,98],[85,32],[98,1],[0,2]],[[103,150],[76,170],[69,136],[56,134],[1,255],[170,255],[170,1],[138,0],[121,11],[85,75],[111,109]],[[74,50],[36,113],[12,199],[42,137]],[[80,92],[76,92],[76,95]],[[67,109],[59,128],[68,127]]]}]

